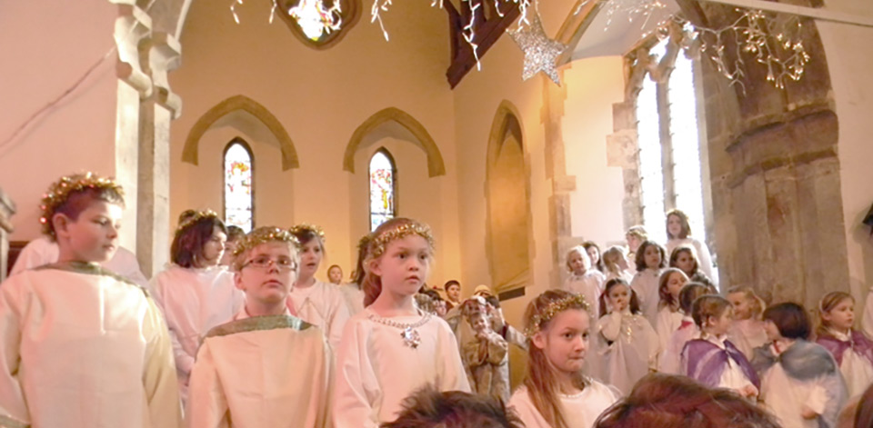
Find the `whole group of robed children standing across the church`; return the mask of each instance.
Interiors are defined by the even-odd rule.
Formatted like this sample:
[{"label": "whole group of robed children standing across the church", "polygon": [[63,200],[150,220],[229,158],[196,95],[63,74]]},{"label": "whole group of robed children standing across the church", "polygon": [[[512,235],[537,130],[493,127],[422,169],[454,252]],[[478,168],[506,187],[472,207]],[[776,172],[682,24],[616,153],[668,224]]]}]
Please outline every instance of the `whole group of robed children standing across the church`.
[{"label": "whole group of robed children standing across the church", "polygon": [[[414,220],[362,238],[353,283],[338,285],[315,277],[317,226],[259,227],[226,244],[234,233],[215,213],[189,211],[172,264],[144,284],[101,266],[119,248],[123,207],[121,187],[95,174],[45,194],[56,259],[0,286],[0,426],[403,426],[405,400],[425,388],[489,395],[528,428],[587,428],[656,371],[763,402],[785,426],[832,426],[873,380],[873,343],[852,329],[848,294],[822,299],[810,342],[801,306],[763,310],[746,288],[723,298],[688,282],[696,264],[664,269],[665,250],[645,239],[630,281],[611,249],[572,250],[565,289],[533,298],[521,333],[487,287],[460,302],[448,284],[445,319],[416,304],[434,243]],[[694,259],[693,246],[673,255],[686,248]],[[510,393],[513,343],[528,362]]]}]

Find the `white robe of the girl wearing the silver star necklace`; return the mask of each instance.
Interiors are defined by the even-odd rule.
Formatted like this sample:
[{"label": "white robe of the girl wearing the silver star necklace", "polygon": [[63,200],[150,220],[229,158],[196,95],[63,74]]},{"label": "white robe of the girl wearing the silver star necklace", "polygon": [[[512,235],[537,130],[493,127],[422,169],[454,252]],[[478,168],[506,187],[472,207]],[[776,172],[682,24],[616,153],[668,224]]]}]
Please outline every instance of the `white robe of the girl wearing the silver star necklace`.
[{"label": "white robe of the girl wearing the silver star necklace", "polygon": [[[430,316],[416,327],[421,343],[413,348],[401,329],[371,320],[366,309],[346,323],[336,355],[333,423],[337,428],[376,428],[396,420],[403,399],[426,384],[438,391],[470,392],[455,335],[446,321]],[[422,316],[386,320],[417,323]]]}]

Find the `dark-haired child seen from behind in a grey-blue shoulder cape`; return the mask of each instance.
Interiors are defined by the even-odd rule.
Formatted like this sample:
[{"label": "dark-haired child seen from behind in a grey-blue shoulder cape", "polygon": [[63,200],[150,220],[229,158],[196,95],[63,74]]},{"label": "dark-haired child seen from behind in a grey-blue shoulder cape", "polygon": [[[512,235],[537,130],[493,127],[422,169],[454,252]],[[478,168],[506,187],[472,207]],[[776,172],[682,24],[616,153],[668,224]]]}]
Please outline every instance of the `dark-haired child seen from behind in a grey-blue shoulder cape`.
[{"label": "dark-haired child seen from behind in a grey-blue shoulder cape", "polygon": [[764,311],[771,341],[755,350],[752,365],[760,373],[760,400],[791,428],[833,428],[846,401],[846,385],[834,358],[807,342],[811,325],[799,304],[776,304]]}]

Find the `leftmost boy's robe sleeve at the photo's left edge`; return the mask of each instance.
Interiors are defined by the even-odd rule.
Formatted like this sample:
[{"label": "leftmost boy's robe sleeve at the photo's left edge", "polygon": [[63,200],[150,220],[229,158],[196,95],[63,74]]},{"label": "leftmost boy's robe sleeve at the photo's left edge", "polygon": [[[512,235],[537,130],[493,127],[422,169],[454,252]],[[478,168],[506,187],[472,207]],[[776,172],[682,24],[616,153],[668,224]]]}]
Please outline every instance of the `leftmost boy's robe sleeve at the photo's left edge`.
[{"label": "leftmost boy's robe sleeve at the photo's left edge", "polygon": [[[13,279],[12,281],[15,281]],[[0,287],[0,426],[30,423],[25,394],[18,379],[21,363],[21,313],[18,287],[7,281]]]}]

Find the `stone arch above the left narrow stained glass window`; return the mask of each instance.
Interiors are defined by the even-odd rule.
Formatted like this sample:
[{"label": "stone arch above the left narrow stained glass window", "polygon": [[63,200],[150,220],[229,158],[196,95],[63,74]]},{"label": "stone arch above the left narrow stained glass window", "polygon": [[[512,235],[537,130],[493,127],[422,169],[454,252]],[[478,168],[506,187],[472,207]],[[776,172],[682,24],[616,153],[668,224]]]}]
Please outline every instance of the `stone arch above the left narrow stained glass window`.
[{"label": "stone arch above the left narrow stained glass window", "polygon": [[237,110],[252,114],[257,118],[257,120],[264,124],[267,129],[269,129],[270,133],[276,136],[276,141],[278,141],[279,149],[282,152],[283,171],[300,167],[294,142],[291,141],[291,137],[288,135],[285,128],[281,123],[279,123],[276,116],[270,113],[264,105],[260,105],[246,95],[231,96],[210,108],[205,114],[197,119],[185,139],[185,146],[182,149],[182,161],[187,162],[188,164],[197,164],[200,138],[203,137],[203,134],[206,134],[206,131],[209,130],[218,119],[221,119],[226,114],[233,113]]}]

